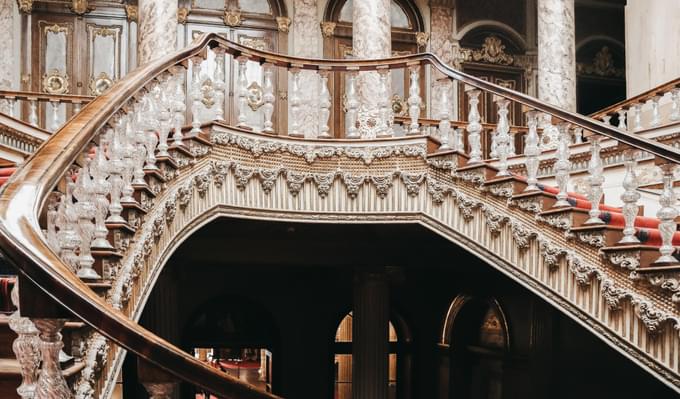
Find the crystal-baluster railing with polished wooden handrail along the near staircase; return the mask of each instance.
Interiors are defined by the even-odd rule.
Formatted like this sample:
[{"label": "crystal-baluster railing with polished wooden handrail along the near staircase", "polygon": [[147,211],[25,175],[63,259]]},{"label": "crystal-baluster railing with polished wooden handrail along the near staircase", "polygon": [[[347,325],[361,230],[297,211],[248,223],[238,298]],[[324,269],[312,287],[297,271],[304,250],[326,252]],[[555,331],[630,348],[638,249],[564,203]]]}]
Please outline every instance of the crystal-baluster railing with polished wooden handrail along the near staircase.
[{"label": "crystal-baluster railing with polished wooden handrail along the near staircase", "polygon": [[[233,107],[232,104],[227,104],[228,106],[224,104],[223,77],[224,63],[227,59],[233,59],[238,68],[238,87],[235,90]],[[209,85],[206,84],[208,79],[205,79],[201,72],[204,67],[208,69]],[[216,372],[132,320],[133,315],[139,312],[139,308],[134,308],[126,298],[135,296],[141,298],[139,292],[147,290],[148,287],[135,285],[134,281],[139,275],[145,273],[147,277],[150,275],[150,272],[145,270],[145,259],[154,251],[155,243],[162,240],[163,223],[167,220],[165,215],[174,215],[176,210],[173,208],[176,205],[172,201],[166,201],[161,205],[155,198],[166,195],[164,190],[174,184],[174,179],[194,173],[192,172],[194,165],[201,164],[201,157],[210,151],[212,145],[205,138],[204,130],[207,128],[206,124],[213,120],[218,121],[213,124],[214,126],[226,125],[234,132],[241,132],[244,137],[234,136],[226,142],[231,143],[233,140],[239,146],[249,147],[253,154],[285,149],[293,155],[304,156],[307,162],[313,161],[314,157],[344,154],[362,158],[368,165],[377,156],[376,153],[356,155],[358,150],[349,143],[365,142],[373,147],[380,147],[385,143],[388,145],[398,141],[391,138],[395,133],[412,136],[411,138],[422,137],[421,125],[432,124],[420,118],[422,98],[419,92],[418,71],[425,67],[435,68],[445,75],[446,79],[462,82],[470,87],[466,93],[470,112],[464,126],[465,137],[460,131],[457,135],[452,133],[455,130],[451,128],[450,114],[442,112],[436,133],[439,141],[436,145],[431,140],[427,141],[426,151],[436,153],[434,154],[436,156],[453,154],[455,158],[453,173],[456,179],[475,184],[483,183],[484,187],[490,187],[492,192],[496,190],[493,187],[498,185],[500,187],[496,190],[498,193],[509,197],[513,203],[525,204],[524,208],[523,205],[518,205],[522,209],[541,212],[537,216],[549,221],[548,225],[559,228],[566,226],[567,230],[572,227],[595,230],[587,231],[591,236],[601,233],[606,224],[601,218],[602,211],[599,207],[604,179],[599,156],[600,139],[606,137],[630,146],[632,151],[627,161],[628,173],[622,182],[625,188],[625,194],[622,196],[624,206],[622,209],[617,208],[623,215],[625,223],[620,238],[613,243],[607,241],[611,245],[602,248],[602,251],[607,254],[616,253],[622,248],[629,252],[638,251],[638,258],[644,258],[645,261],[639,262],[640,264],[634,267],[635,275],[649,273],[651,276],[657,276],[655,277],[657,285],[662,285],[662,289],[670,290],[673,295],[678,294],[680,291],[678,287],[673,286],[672,282],[668,283],[672,279],[665,276],[677,270],[677,262],[672,256],[673,234],[677,227],[672,173],[680,161],[680,151],[461,73],[444,65],[432,54],[386,60],[310,60],[250,49],[217,35],[203,36],[190,47],[140,67],[114,84],[108,92],[94,99],[63,128],[55,132],[6,184],[0,193],[0,246],[6,259],[19,270],[21,292],[25,289],[22,282],[26,282],[26,289],[30,289],[31,286],[37,287],[46,294],[46,297],[68,311],[64,314],[74,315],[113,343],[136,353],[140,358],[178,379],[198,385],[218,396],[274,397]],[[249,90],[248,68],[262,69],[261,98],[258,95],[253,97]],[[401,133],[394,129],[395,124],[386,95],[389,93],[386,83],[389,81],[389,71],[394,69],[406,70],[411,81],[408,98],[409,119],[396,121],[397,125],[400,123],[406,125]],[[275,73],[275,70],[282,73]],[[374,93],[379,95],[372,111],[366,113],[366,109],[361,108],[362,102],[356,93],[356,84],[357,80],[364,79],[367,73],[375,74],[373,77],[377,79],[372,83],[370,79],[366,79],[363,83],[376,85]],[[300,79],[303,74],[312,76],[318,74],[318,78],[314,79],[318,79],[321,100],[318,102],[317,112],[312,114],[318,118],[317,129],[314,131],[304,130],[300,123],[305,112],[301,104]],[[332,100],[327,82],[331,74],[339,74],[346,82],[344,115],[346,128],[343,132],[335,132],[329,126]],[[266,148],[253,148],[252,139],[245,136],[256,134],[264,139],[273,140],[274,137],[269,135],[274,133],[272,118],[283,118],[282,115],[285,113],[274,113],[279,107],[278,96],[273,94],[276,92],[275,76],[278,76],[279,81],[290,76],[288,135],[298,139],[293,139],[290,143],[274,143]],[[281,82],[280,86],[285,87],[285,84]],[[484,127],[480,123],[478,108],[481,91],[497,96],[495,104],[499,117],[493,138],[494,155],[497,157],[495,167],[489,167],[481,155],[480,132]],[[253,102],[262,102],[259,107],[262,109],[261,113],[253,114],[249,111],[255,112],[251,107]],[[528,109],[526,130],[512,128],[509,125],[510,102],[521,104]],[[187,108],[191,110],[190,117],[186,116]],[[233,112],[233,115],[225,115],[225,110]],[[285,111],[285,108],[279,107],[279,110]],[[340,117],[342,116],[334,116]],[[230,126],[224,119],[230,119],[235,126]],[[183,128],[185,120],[191,121],[190,129]],[[539,126],[542,126],[542,130]],[[508,170],[513,131],[522,131],[526,134],[524,148],[526,178],[514,176]],[[582,131],[591,145],[589,160],[591,176],[587,198],[576,198],[568,190],[570,145],[574,141],[575,131],[577,136]],[[341,147],[338,147],[340,144],[337,140],[328,140],[328,146],[324,144],[324,140],[330,138],[331,133],[344,139],[339,143],[347,143],[341,150],[338,149]],[[537,184],[541,142],[551,142],[556,146],[558,187],[553,194],[541,190]],[[312,149],[307,151],[307,147]],[[332,154],[328,152],[331,149]],[[377,154],[381,154],[379,156],[382,157],[412,155],[410,151],[400,149],[389,154],[384,152]],[[635,195],[637,183],[634,158],[639,151],[655,156],[664,171],[664,194],[661,196],[661,208],[656,220],[660,245],[651,251],[650,248],[640,245],[635,236],[638,197]],[[420,152],[416,151],[415,154],[418,155]],[[432,162],[437,163],[435,161],[433,159]],[[233,165],[229,163],[211,166],[212,173],[221,176],[222,179],[232,167]],[[242,174],[240,179],[245,180],[245,183],[238,184],[245,185],[248,176],[254,172],[248,175],[241,169],[239,173]],[[264,171],[258,173],[266,175]],[[280,171],[272,173],[271,177],[278,178],[279,173]],[[335,173],[333,172],[333,179]],[[410,180],[405,172],[399,173],[402,174],[402,180],[407,184],[409,192],[414,192],[420,183]],[[442,176],[438,178],[445,179]],[[450,178],[450,175],[448,176]],[[195,184],[200,186],[196,188],[197,190],[202,190],[203,185],[210,182],[210,176],[194,177]],[[290,187],[298,187],[306,179],[305,175],[300,181],[296,181],[298,178],[295,176],[290,178],[293,179],[292,183],[289,181]],[[347,184],[350,186],[365,182],[361,180],[354,184],[351,178],[348,181]],[[513,184],[510,191],[503,188],[507,182]],[[515,182],[519,182],[518,185],[515,185]],[[521,186],[521,192],[515,192],[515,186]],[[389,185],[387,187],[389,188]],[[193,190],[193,186],[189,190]],[[432,195],[439,198],[440,191],[433,187]],[[182,192],[179,190],[173,195],[181,196]],[[381,195],[379,197],[382,198]],[[456,198],[465,202],[462,195]],[[575,203],[580,204],[580,207],[574,206]],[[152,211],[160,206],[164,207],[163,215],[150,219]],[[461,209],[464,208],[463,205],[459,206]],[[151,236],[146,237],[143,242],[135,243],[137,249],[141,245],[141,252],[131,257],[127,250],[130,242],[139,238],[135,235],[136,229],[142,224],[149,223],[154,227]],[[585,233],[581,231],[580,234]],[[626,246],[617,248],[614,245],[617,242]],[[660,256],[651,255],[654,252]],[[640,253],[644,253],[644,256]],[[562,252],[557,251],[553,258],[558,258],[560,254]],[[121,281],[118,278],[120,277],[118,273],[121,272],[121,258],[125,258],[126,262],[132,265],[132,271],[125,275],[128,281]],[[152,284],[152,280],[153,278],[145,279],[148,284]],[[664,282],[667,284],[664,285]],[[98,292],[103,292],[106,300],[101,298]],[[35,295],[33,297],[35,298]],[[670,302],[668,297],[659,300]],[[666,302],[662,305],[664,309],[669,308]],[[644,306],[648,307],[647,302]],[[59,320],[66,316],[55,318],[52,313],[28,300],[21,301],[20,310],[34,319],[35,326],[41,334],[42,344],[50,348],[43,351],[43,372],[40,376],[45,376],[45,380],[50,378],[63,381],[58,375],[58,367],[55,367],[58,365],[55,358],[58,351],[54,348],[58,347],[59,331],[63,325]],[[54,314],[57,313],[58,311],[54,311]],[[644,315],[647,318],[658,316],[656,314],[649,316],[647,308]],[[664,320],[669,318],[670,316],[665,317]],[[656,328],[654,323],[649,324]],[[109,350],[109,354],[115,353],[117,352]],[[97,357],[93,356],[94,360],[90,363],[96,363]],[[88,370],[88,373],[92,372],[91,369]],[[673,373],[674,371],[671,371],[670,375]],[[94,391],[105,390],[104,387],[93,386],[91,382],[86,382],[81,387],[79,389],[85,392],[83,397],[89,397],[87,395],[92,395]],[[41,389],[40,379],[37,388]],[[62,390],[65,397],[69,395],[65,383],[45,389],[57,392]]]}]

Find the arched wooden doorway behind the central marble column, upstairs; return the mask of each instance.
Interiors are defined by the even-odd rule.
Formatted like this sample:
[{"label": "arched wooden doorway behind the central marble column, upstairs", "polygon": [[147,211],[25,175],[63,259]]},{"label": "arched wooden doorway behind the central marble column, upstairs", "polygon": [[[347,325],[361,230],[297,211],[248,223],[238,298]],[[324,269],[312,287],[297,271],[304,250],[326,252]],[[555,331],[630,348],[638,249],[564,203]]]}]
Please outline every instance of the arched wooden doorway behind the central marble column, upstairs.
[{"label": "arched wooden doorway behind the central marble column, upstairs", "polygon": [[[391,1],[391,24],[392,24],[392,55],[414,54],[424,51],[425,42],[418,37],[423,34],[425,25],[423,17],[414,3],[409,0]],[[351,58],[352,57],[352,0],[331,0],[324,13],[322,33],[324,36],[324,58]],[[423,36],[424,37],[424,36]],[[391,74],[392,108],[397,115],[405,115],[408,107],[406,97],[408,95],[409,77],[404,69],[395,69]],[[424,71],[421,70],[420,92],[425,93]],[[345,132],[344,118],[344,74],[334,74],[329,90],[333,95],[333,132],[335,137],[343,137]],[[336,117],[340,115],[340,117]]]}]

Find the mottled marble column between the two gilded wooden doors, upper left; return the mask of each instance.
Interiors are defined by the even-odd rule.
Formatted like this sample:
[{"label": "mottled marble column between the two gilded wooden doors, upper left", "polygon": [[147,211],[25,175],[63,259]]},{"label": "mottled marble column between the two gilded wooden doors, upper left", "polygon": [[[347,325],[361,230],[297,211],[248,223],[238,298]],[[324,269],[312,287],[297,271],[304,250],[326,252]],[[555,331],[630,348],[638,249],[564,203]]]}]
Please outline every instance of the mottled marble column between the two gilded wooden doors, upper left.
[{"label": "mottled marble column between the two gilded wooden doors, upper left", "polygon": [[177,46],[177,0],[139,0],[137,64],[170,54]]}]

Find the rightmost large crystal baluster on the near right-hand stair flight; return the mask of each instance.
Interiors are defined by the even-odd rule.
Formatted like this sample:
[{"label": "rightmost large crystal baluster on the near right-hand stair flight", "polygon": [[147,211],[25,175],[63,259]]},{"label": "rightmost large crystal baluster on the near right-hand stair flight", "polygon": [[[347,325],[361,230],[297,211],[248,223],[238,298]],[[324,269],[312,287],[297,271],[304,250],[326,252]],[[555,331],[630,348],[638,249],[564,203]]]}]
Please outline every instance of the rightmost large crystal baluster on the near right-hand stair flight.
[{"label": "rightmost large crystal baluster on the near right-hand stair flight", "polygon": [[661,256],[655,263],[676,263],[673,257],[675,247],[673,246],[673,234],[677,231],[675,218],[678,217],[678,210],[675,208],[675,190],[673,189],[673,172],[676,164],[666,163],[660,165],[662,171],[663,191],[659,196],[661,208],[657,211],[656,217],[659,219],[659,233],[661,234]]}]

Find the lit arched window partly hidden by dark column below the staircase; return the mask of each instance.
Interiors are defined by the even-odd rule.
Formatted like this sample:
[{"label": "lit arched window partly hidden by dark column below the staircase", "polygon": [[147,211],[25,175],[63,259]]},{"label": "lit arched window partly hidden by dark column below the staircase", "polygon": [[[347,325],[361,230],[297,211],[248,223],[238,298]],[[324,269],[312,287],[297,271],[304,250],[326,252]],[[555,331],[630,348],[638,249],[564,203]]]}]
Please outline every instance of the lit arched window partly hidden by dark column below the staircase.
[{"label": "lit arched window partly hidden by dark column below the staircase", "polygon": [[[395,317],[397,328],[403,331],[400,339],[400,334],[395,328],[395,323],[390,321],[389,324],[389,399],[407,398],[408,382],[400,384],[405,374],[408,374],[409,354],[407,351],[408,338],[403,321]],[[333,389],[334,399],[351,399],[352,398],[352,312],[347,314],[335,333],[335,381]],[[400,378],[401,377],[401,378]],[[403,386],[402,386],[403,385]]]}]

